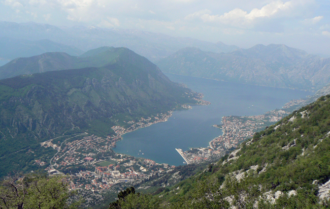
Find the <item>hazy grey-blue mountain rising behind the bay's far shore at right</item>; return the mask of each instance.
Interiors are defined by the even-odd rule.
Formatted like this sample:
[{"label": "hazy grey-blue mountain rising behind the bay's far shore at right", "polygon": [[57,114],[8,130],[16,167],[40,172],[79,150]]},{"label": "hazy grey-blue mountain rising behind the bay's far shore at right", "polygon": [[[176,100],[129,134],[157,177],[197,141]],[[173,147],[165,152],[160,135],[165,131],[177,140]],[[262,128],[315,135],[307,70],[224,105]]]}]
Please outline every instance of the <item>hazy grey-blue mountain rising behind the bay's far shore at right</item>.
[{"label": "hazy grey-blue mountain rising behind the bay's far shore at right", "polygon": [[230,53],[188,47],[156,64],[163,72],[270,87],[314,90],[330,82],[330,59],[276,44]]}]

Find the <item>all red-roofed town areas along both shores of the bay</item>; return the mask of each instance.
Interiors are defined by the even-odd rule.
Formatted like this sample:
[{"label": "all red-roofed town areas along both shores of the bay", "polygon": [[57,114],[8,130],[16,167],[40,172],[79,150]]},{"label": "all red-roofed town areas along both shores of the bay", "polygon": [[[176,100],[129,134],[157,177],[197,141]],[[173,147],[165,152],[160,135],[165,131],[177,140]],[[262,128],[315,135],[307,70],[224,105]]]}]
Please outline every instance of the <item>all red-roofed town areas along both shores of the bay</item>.
[{"label": "all red-roofed town areas along both shores of the bay", "polygon": [[[198,104],[207,105],[199,95]],[[298,101],[300,102],[300,101]],[[292,101],[286,107],[296,104]],[[190,105],[182,105],[179,109],[191,109]],[[176,149],[183,157],[186,164],[201,163],[215,160],[227,154],[228,150],[236,148],[239,143],[250,138],[253,134],[265,126],[289,114],[285,110],[273,110],[259,116],[228,116],[222,118],[222,124],[213,125],[220,128],[223,134],[209,143],[207,148],[192,148],[187,151]],[[170,171],[175,166],[158,164],[153,160],[134,158],[129,155],[119,154],[112,151],[116,142],[121,140],[125,133],[143,128],[157,122],[164,122],[171,117],[172,111],[160,113],[155,116],[141,118],[138,121],[124,121],[124,126],[111,127],[113,136],[98,137],[80,133],[64,141],[48,140],[41,143],[43,147],[52,147],[57,153],[45,169],[49,174],[68,174],[70,189],[85,189],[91,192],[101,192],[111,189],[114,185],[123,182],[133,183],[136,180],[148,179],[153,175],[160,175]],[[87,135],[87,136],[86,136]],[[58,137],[60,138],[60,137]],[[60,143],[61,142],[61,143]],[[45,166],[47,163],[36,160],[35,164]]]}]

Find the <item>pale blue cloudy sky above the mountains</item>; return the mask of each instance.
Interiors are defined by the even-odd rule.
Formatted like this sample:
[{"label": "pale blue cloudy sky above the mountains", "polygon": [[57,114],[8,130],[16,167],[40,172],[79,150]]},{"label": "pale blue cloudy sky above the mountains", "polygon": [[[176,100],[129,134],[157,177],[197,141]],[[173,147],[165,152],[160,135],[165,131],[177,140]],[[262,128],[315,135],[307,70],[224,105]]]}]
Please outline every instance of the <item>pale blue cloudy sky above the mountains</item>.
[{"label": "pale blue cloudy sky above the mountains", "polygon": [[137,29],[330,55],[330,0],[0,0],[0,21]]}]

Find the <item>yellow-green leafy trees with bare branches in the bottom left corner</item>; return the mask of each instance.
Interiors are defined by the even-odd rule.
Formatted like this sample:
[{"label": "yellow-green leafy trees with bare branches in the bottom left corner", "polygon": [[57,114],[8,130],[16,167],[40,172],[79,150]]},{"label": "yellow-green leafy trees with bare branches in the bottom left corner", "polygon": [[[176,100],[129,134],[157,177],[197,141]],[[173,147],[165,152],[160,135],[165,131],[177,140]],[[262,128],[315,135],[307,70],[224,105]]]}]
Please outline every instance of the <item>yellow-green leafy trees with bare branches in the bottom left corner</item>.
[{"label": "yellow-green leafy trees with bare branches in the bottom left corner", "polygon": [[68,191],[63,176],[11,174],[0,183],[0,209],[68,209],[79,202],[68,200],[75,192]]}]

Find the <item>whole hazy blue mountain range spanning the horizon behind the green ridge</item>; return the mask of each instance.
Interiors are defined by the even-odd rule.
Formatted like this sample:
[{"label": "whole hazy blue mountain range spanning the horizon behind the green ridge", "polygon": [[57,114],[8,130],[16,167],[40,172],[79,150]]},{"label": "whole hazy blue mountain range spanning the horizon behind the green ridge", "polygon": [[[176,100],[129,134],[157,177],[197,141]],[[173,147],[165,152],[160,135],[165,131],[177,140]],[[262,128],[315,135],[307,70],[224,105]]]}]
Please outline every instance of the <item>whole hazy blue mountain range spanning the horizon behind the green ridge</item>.
[{"label": "whole hazy blue mountain range spanning the horizon behind the green ridge", "polygon": [[[33,22],[0,22],[0,40],[14,43],[2,44],[3,52],[13,53],[0,54],[1,63],[43,52],[79,56],[83,51],[112,46],[128,47],[155,62],[164,72],[181,75],[308,91],[318,90],[330,82],[330,58],[310,55],[283,44],[259,44],[241,49],[222,42],[141,30],[57,27]],[[47,59],[48,55],[42,56]],[[5,77],[8,76],[1,75]]]}]

